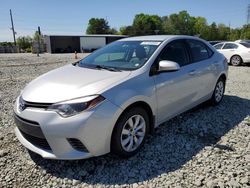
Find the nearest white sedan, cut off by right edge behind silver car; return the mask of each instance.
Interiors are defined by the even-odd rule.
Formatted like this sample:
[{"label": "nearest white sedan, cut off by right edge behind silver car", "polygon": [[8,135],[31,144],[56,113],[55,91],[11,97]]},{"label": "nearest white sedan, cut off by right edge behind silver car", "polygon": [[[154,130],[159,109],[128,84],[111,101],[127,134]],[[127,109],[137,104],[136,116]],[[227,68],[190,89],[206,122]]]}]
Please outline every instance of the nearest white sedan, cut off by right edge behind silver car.
[{"label": "nearest white sedan, cut off by right edge behind silver car", "polygon": [[234,66],[250,63],[250,44],[247,42],[221,42],[214,47]]}]

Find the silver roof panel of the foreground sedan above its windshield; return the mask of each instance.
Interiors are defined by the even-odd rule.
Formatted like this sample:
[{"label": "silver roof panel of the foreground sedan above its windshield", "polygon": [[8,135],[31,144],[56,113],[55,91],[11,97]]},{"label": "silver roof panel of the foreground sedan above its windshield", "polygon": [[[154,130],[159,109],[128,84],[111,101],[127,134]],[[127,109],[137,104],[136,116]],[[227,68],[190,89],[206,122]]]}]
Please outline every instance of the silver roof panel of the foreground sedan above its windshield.
[{"label": "silver roof panel of the foreground sedan above its windshield", "polygon": [[121,41],[135,41],[135,40],[149,40],[149,41],[165,41],[173,38],[195,38],[188,35],[148,35],[148,36],[139,36],[139,37],[129,37],[121,39]]}]

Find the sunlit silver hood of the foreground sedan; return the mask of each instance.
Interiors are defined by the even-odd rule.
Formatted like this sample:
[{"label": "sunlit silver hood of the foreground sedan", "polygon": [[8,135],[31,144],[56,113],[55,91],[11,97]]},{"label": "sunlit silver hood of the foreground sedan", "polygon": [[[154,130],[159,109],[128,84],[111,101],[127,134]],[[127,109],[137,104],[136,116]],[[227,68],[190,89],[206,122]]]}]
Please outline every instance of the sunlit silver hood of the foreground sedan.
[{"label": "sunlit silver hood of the foreground sedan", "polygon": [[100,94],[106,88],[127,78],[130,73],[66,65],[30,82],[24,88],[22,98],[29,102],[56,103]]}]

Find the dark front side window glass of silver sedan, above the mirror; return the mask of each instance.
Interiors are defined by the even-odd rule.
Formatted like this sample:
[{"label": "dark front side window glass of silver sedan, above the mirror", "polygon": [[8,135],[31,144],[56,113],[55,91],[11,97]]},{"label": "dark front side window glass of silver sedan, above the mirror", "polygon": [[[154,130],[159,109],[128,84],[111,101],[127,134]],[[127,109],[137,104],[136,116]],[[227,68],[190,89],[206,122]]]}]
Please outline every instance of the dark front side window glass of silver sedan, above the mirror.
[{"label": "dark front side window glass of silver sedan, above the mirror", "polygon": [[189,63],[189,56],[185,42],[176,40],[169,43],[158,57],[158,62],[161,60],[174,61],[180,66],[185,66]]}]

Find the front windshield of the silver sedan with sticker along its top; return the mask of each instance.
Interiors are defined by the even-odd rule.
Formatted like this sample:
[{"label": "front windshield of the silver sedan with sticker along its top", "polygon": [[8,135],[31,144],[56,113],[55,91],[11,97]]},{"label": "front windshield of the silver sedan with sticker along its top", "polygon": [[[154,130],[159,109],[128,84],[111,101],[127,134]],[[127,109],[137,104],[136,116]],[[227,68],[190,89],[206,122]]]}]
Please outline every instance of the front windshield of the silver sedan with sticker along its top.
[{"label": "front windshield of the silver sedan with sticker along its top", "polygon": [[82,59],[80,67],[135,70],[143,66],[161,42],[117,41]]}]

